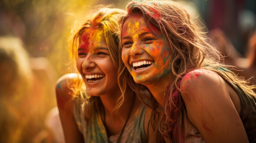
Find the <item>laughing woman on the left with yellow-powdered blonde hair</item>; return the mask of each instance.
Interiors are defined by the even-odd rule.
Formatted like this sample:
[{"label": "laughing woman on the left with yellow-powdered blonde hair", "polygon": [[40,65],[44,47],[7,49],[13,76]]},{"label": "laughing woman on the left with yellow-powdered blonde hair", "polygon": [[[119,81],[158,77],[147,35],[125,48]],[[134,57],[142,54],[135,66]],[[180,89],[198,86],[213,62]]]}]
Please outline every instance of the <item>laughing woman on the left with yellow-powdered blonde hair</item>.
[{"label": "laughing woman on the left with yellow-powdered blonde hair", "polygon": [[117,21],[126,12],[97,6],[91,13],[92,18],[88,16],[75,33],[70,48],[79,73],[63,75],[56,83],[65,140],[67,143],[150,142],[151,110],[137,98],[140,94],[150,96],[150,92],[134,81],[127,84],[131,78],[126,77],[130,75],[118,58]]}]

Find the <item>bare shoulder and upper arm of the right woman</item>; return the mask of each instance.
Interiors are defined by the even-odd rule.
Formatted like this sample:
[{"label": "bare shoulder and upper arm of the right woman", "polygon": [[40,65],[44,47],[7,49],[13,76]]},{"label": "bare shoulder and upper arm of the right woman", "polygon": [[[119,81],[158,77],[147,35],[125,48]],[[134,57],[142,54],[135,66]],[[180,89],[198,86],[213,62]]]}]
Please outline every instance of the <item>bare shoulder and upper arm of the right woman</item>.
[{"label": "bare shoulder and upper arm of the right woman", "polygon": [[207,143],[249,142],[225,81],[218,74],[193,70],[180,87],[189,119]]}]

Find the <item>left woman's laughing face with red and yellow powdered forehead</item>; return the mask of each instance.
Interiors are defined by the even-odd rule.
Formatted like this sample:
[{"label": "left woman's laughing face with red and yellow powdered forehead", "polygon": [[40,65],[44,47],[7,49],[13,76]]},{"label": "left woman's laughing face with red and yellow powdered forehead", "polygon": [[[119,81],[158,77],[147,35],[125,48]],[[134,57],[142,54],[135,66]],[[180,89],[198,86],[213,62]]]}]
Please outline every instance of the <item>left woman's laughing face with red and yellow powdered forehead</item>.
[{"label": "left woman's laughing face with red and yellow powdered forehead", "polygon": [[115,67],[101,29],[86,29],[78,48],[77,69],[88,95],[99,96],[119,91]]}]

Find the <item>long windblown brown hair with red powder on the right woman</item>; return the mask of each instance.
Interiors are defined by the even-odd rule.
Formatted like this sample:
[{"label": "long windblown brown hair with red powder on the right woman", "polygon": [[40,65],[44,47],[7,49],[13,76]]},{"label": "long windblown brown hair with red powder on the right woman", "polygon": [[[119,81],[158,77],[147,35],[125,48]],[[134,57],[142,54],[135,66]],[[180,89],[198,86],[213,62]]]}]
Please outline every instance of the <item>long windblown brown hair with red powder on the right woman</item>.
[{"label": "long windblown brown hair with red powder on the right woman", "polygon": [[[131,0],[126,4],[126,10],[128,15],[120,19],[121,28],[130,15],[140,14],[147,24],[153,24],[162,32],[173,52],[173,61],[170,64],[171,74],[175,82],[170,83],[166,89],[164,107],[166,117],[163,117],[162,121],[165,122],[165,127],[159,127],[160,131],[172,132],[170,137],[173,142],[180,142],[184,139],[184,131],[180,127],[183,118],[188,119],[188,117],[180,96],[179,83],[189,71],[196,68],[213,70],[222,75],[225,80],[238,84],[247,94],[255,95],[253,92],[255,86],[249,86],[248,80],[238,77],[233,72],[219,70],[219,67],[231,69],[233,66],[218,63],[223,57],[209,43],[206,32],[202,31],[204,27],[200,27],[200,21],[197,18],[192,18],[178,2],[171,0]],[[123,47],[121,42],[119,44]],[[168,129],[164,129],[166,125],[168,125]]]}]

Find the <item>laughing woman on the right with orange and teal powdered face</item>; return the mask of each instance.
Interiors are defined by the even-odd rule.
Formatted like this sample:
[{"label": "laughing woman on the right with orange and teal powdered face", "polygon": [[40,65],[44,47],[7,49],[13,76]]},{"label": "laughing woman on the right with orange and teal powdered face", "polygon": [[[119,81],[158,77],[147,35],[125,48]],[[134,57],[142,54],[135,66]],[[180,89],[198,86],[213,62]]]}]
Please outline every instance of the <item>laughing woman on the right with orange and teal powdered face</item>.
[{"label": "laughing woman on the right with orange and teal powdered face", "polygon": [[126,9],[121,59],[159,104],[154,142],[256,142],[256,86],[216,62],[223,57],[198,20],[171,0],[131,0]]}]

